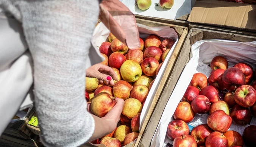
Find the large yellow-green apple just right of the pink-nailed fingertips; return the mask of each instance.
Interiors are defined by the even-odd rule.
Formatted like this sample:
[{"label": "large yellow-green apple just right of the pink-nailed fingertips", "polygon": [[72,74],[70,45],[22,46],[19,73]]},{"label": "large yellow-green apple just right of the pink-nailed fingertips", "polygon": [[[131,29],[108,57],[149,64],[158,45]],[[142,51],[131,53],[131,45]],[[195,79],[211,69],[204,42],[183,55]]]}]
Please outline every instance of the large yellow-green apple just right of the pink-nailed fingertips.
[{"label": "large yellow-green apple just right of the pink-nailed fingertips", "polygon": [[136,61],[126,60],[120,67],[120,73],[126,82],[136,82],[142,75],[142,70]]}]

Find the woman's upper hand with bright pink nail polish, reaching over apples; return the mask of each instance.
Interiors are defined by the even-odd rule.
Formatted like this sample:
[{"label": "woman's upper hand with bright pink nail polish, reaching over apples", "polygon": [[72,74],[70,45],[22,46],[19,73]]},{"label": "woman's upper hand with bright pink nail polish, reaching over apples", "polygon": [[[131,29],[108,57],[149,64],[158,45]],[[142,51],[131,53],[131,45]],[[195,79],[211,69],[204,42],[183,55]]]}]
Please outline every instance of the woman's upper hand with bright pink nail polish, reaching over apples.
[{"label": "woman's upper hand with bright pink nail polish, reaching over apples", "polygon": [[109,86],[114,85],[114,80],[118,81],[117,75],[114,70],[111,67],[105,66],[101,63],[89,67],[86,70],[86,77],[97,78],[100,83],[106,81],[107,85]]}]

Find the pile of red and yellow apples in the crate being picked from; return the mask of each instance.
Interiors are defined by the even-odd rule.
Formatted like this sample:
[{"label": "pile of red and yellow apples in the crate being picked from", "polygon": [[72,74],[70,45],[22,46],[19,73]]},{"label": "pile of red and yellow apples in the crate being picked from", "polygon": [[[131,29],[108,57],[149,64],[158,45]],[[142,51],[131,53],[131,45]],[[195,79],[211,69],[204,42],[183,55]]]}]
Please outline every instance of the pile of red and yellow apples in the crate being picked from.
[{"label": "pile of red and yellow apples in the crate being picked from", "polygon": [[89,111],[99,117],[105,116],[115,106],[114,97],[125,100],[120,125],[112,133],[92,142],[107,147],[121,147],[139,135],[140,112],[175,41],[165,39],[161,42],[156,35],[149,35],[145,42],[140,38],[139,49],[131,50],[112,33],[108,39],[109,42],[103,42],[99,48],[105,57],[101,64],[112,67],[119,80],[114,81],[111,87],[106,82],[99,84],[98,79],[86,77],[85,98],[87,103],[91,103]]}]

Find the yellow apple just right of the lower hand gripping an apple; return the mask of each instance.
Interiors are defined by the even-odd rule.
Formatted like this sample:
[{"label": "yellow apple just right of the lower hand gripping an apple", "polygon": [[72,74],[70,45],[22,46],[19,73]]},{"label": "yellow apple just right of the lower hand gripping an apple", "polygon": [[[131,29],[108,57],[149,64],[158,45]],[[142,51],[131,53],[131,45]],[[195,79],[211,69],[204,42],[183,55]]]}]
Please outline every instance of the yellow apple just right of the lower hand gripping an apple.
[{"label": "yellow apple just right of the lower hand gripping an apple", "polygon": [[135,98],[128,98],[123,104],[122,114],[132,119],[137,113],[142,110],[142,104]]}]

